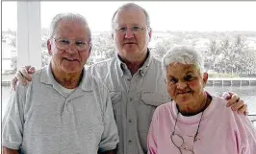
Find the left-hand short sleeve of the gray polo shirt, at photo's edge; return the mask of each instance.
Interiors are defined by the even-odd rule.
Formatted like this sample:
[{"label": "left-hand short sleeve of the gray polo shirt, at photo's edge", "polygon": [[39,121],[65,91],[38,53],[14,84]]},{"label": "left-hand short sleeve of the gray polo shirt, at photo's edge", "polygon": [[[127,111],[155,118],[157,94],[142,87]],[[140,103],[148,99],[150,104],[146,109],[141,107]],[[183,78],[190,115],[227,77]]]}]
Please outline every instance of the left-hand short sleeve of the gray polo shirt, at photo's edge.
[{"label": "left-hand short sleeve of the gray polo shirt, at photo's edge", "polygon": [[17,87],[16,91],[12,92],[2,123],[2,146],[11,149],[19,149],[23,140],[23,100],[25,98],[20,95],[20,91],[21,89]]}]

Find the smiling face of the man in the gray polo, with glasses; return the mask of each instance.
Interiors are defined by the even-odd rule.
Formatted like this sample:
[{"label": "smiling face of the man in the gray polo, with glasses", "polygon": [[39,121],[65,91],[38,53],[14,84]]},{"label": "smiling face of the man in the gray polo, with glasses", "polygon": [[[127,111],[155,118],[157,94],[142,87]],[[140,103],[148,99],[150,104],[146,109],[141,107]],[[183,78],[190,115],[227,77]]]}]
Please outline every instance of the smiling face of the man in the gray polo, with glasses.
[{"label": "smiling face of the man in the gray polo, with glasses", "polygon": [[[85,44],[89,47],[81,50]],[[80,73],[90,56],[89,31],[78,20],[61,20],[53,39],[47,41],[47,47],[52,55],[52,69],[65,74]]]}]

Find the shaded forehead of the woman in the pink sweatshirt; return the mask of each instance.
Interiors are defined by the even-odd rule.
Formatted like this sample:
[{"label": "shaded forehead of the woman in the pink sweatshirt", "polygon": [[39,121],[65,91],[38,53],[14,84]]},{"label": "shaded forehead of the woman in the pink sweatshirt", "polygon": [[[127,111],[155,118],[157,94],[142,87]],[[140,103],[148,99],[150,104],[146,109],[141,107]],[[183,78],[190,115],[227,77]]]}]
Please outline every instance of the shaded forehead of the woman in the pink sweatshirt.
[{"label": "shaded forehead of the woman in the pink sweatshirt", "polygon": [[169,64],[166,71],[167,75],[176,77],[186,75],[188,73],[197,74],[199,69],[197,69],[197,67],[192,64],[175,63]]}]

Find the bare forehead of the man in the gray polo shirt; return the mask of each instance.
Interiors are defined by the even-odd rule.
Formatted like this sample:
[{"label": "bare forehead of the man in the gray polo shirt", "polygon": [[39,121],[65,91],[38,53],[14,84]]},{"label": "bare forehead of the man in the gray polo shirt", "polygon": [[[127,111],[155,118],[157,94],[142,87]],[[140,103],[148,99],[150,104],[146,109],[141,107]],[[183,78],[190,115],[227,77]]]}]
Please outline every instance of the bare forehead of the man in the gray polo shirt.
[{"label": "bare forehead of the man in the gray polo shirt", "polygon": [[76,37],[89,36],[87,25],[79,20],[61,20],[56,26],[56,35]]}]

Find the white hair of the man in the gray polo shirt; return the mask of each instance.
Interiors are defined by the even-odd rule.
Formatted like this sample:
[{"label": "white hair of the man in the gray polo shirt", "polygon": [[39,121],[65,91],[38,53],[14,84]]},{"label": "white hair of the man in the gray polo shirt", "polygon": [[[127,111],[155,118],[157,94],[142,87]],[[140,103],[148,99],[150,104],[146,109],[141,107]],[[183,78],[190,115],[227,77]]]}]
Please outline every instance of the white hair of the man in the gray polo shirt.
[{"label": "white hair of the man in the gray polo shirt", "polygon": [[78,13],[72,13],[72,12],[59,13],[59,14],[54,16],[54,18],[51,22],[51,26],[50,26],[50,33],[49,33],[50,38],[52,38],[53,35],[56,33],[57,25],[58,25],[59,21],[61,21],[61,20],[66,20],[66,21],[78,20],[78,21],[81,21],[82,23],[85,24],[85,27],[88,29],[89,39],[91,40],[91,32],[90,32],[90,27],[88,25],[87,19],[83,15],[80,15]]}]

